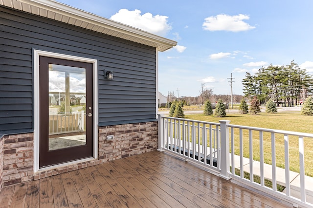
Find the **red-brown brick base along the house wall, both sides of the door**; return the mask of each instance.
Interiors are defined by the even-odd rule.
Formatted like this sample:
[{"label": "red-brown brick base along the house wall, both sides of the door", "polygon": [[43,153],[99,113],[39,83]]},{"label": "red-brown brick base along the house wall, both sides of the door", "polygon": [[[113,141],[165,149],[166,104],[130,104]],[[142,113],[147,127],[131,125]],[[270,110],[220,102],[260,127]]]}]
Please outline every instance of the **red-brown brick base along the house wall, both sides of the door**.
[{"label": "red-brown brick base along the house wall, both sides of the door", "polygon": [[[107,141],[107,135],[113,135],[114,139]],[[157,121],[99,127],[98,158],[49,170],[45,169],[35,174],[33,173],[33,133],[5,135],[1,138],[0,190],[5,186],[155,151],[157,149]]]}]

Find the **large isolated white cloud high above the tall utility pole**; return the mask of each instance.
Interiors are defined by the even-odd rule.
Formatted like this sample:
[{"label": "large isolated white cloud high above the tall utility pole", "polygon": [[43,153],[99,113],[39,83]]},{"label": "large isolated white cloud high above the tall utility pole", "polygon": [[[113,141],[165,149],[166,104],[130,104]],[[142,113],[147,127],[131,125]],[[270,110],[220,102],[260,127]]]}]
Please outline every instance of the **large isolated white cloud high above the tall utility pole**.
[{"label": "large isolated white cloud high above the tall utility pole", "polygon": [[229,16],[225,14],[211,16],[204,19],[202,27],[204,30],[209,31],[231,31],[240,32],[254,29],[254,26],[244,22],[244,20],[250,19],[247,15],[234,15]]}]

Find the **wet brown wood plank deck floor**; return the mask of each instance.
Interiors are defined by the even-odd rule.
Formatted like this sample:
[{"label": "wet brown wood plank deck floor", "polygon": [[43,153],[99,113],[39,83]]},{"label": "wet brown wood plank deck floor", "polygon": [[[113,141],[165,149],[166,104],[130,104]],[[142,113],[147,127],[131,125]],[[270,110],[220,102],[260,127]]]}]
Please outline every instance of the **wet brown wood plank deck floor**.
[{"label": "wet brown wood plank deck floor", "polygon": [[153,151],[5,187],[0,208],[292,208]]}]

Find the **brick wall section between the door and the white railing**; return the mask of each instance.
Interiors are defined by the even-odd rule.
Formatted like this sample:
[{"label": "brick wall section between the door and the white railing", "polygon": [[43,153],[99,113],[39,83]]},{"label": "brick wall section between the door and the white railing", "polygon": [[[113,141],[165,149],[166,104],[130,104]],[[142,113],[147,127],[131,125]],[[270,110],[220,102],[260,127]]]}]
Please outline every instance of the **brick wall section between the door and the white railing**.
[{"label": "brick wall section between the door and the white railing", "polygon": [[[107,141],[107,135],[114,135]],[[99,160],[111,161],[157,149],[157,121],[99,128]]]}]

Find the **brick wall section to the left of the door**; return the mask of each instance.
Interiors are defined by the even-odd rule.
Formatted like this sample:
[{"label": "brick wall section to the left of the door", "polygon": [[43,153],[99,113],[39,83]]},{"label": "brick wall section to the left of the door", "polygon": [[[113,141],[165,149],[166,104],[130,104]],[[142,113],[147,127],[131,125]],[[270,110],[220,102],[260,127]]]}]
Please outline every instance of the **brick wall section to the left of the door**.
[{"label": "brick wall section to the left of the door", "polygon": [[33,180],[33,133],[5,135],[3,140],[3,186]]}]

